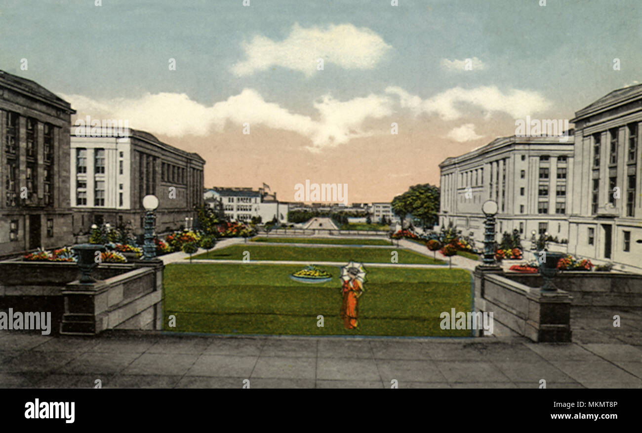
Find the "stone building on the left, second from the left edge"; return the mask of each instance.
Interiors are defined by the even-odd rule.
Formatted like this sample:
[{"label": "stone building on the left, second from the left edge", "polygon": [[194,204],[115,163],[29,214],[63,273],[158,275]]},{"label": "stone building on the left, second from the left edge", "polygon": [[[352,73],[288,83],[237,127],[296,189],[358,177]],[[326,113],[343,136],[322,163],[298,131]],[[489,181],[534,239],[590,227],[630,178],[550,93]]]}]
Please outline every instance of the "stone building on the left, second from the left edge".
[{"label": "stone building on the left, second from the left edge", "polygon": [[157,232],[183,228],[185,219],[195,218],[196,208],[204,205],[205,160],[148,132],[128,129],[114,134],[72,126],[67,161],[76,233],[87,233],[92,224],[101,223],[129,225],[142,233],[143,197],[148,194],[160,202]]}]

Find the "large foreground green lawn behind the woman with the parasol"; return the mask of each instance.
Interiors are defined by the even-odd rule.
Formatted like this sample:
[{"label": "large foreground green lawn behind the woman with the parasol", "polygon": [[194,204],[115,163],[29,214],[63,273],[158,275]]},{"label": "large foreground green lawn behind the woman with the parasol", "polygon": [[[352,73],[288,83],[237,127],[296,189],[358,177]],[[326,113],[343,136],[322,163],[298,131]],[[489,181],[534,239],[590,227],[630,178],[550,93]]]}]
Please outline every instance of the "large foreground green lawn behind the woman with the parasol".
[{"label": "large foreground green lawn behind the woman with the parasol", "polygon": [[[320,266],[331,282],[289,278],[301,266],[169,264],[164,271],[164,324],[174,332],[279,335],[471,336],[442,330],[442,311],[471,310],[471,275],[464,269],[367,269],[359,299],[360,327],[346,330],[339,317],[339,268]],[[176,327],[168,327],[169,315]],[[324,327],[317,327],[317,316]]]}]

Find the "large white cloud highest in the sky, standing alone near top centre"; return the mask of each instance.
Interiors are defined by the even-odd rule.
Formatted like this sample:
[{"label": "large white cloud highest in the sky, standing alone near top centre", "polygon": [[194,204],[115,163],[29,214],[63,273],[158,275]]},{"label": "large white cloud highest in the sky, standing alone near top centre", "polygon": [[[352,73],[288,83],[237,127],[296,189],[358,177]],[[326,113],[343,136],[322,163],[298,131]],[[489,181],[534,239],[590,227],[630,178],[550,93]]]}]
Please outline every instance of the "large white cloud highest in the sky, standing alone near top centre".
[{"label": "large white cloud highest in the sky, standing alone near top centre", "polygon": [[232,72],[245,76],[282,66],[312,76],[317,72],[317,60],[343,69],[372,69],[390,46],[369,28],[352,24],[331,25],[327,28],[302,28],[294,24],[290,35],[280,42],[256,36],[243,44],[246,60],[232,66]]}]

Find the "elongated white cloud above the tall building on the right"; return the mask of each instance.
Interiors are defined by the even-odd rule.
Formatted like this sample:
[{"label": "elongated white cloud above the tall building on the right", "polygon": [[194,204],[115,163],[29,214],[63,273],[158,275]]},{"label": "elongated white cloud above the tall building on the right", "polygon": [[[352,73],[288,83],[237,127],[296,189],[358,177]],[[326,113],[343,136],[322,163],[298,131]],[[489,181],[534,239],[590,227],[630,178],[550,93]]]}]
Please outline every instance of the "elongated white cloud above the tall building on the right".
[{"label": "elongated white cloud above the tall building on the right", "polygon": [[400,87],[388,87],[386,93],[399,97],[402,108],[413,114],[436,114],[442,120],[452,121],[462,117],[465,104],[482,108],[487,112],[501,112],[515,119],[542,112],[551,106],[550,101],[537,92],[512,89],[502,92],[496,86],[481,86],[474,89],[453,87],[428,99],[421,99]]}]

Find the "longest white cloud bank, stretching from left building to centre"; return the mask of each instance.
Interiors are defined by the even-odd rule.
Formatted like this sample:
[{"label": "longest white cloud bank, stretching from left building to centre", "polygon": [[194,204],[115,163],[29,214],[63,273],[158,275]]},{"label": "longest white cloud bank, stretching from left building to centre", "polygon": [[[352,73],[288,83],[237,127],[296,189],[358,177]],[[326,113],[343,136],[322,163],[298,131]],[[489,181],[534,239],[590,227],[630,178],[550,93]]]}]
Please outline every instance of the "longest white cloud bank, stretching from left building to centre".
[{"label": "longest white cloud bank, stretching from left building to centre", "polygon": [[205,106],[189,99],[186,94],[144,94],[135,99],[96,101],[80,95],[60,95],[78,111],[78,117],[91,115],[95,119],[127,119],[131,128],[150,133],[180,137],[207,135],[213,129],[221,131],[226,123],[250,123],[268,128],[298,133],[311,140],[311,151],[334,147],[370,132],[363,130],[367,119],[380,119],[392,114],[392,101],[386,96],[370,94],[364,98],[338,101],[325,95],[314,103],[317,119],[291,113],[277,103],[266,102],[254,89],[244,89],[225,101]]}]

